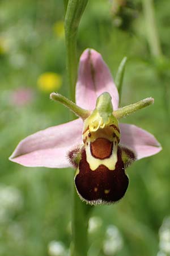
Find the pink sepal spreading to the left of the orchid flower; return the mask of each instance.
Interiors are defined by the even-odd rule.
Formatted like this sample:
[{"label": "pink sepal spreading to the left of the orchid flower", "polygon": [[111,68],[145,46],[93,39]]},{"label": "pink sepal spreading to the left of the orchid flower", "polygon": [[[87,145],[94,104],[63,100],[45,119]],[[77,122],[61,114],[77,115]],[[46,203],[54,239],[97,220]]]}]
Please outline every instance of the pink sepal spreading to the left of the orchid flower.
[{"label": "pink sepal spreading to the left of the orchid flower", "polygon": [[82,143],[82,119],[49,127],[23,139],[10,160],[27,167],[71,167],[67,153]]}]

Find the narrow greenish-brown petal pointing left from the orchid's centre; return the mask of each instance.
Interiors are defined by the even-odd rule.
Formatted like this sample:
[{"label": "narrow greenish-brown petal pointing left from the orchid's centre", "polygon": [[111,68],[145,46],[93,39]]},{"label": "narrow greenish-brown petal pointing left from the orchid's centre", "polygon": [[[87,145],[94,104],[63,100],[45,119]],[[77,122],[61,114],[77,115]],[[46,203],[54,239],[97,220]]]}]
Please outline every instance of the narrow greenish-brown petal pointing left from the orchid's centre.
[{"label": "narrow greenish-brown petal pointing left from the orchid's centre", "polygon": [[62,103],[67,108],[69,108],[75,115],[82,118],[83,120],[85,120],[90,115],[90,112],[88,110],[80,108],[73,101],[70,101],[59,93],[51,93],[50,99]]}]

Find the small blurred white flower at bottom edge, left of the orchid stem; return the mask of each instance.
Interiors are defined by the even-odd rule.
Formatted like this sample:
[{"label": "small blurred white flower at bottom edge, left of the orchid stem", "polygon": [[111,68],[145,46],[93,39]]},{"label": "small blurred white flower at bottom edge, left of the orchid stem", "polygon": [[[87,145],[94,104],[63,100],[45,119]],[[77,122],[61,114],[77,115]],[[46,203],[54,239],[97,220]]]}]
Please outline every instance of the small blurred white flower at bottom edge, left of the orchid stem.
[{"label": "small blurred white flower at bottom edge, left of the orchid stem", "polygon": [[48,245],[50,256],[65,256],[67,254],[65,246],[60,241],[51,241]]}]

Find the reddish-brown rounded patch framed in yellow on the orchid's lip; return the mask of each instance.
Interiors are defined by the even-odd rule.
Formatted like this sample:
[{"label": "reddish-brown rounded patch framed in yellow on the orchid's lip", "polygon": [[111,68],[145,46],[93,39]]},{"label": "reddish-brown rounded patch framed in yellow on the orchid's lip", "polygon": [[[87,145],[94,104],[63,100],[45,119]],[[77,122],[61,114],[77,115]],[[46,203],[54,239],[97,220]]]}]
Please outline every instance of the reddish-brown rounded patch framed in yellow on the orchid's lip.
[{"label": "reddish-brown rounded patch framed in yellow on the orchid's lip", "polygon": [[98,138],[96,141],[90,143],[90,150],[92,156],[98,159],[109,158],[112,154],[113,142],[105,138]]}]

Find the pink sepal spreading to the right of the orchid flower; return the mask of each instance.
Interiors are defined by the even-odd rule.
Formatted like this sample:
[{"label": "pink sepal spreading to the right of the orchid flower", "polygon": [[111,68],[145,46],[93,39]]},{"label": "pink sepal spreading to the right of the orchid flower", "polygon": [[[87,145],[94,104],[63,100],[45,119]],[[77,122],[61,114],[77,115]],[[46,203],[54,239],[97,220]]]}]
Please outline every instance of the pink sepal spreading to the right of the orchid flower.
[{"label": "pink sepal spreading to the right of the orchid flower", "polygon": [[162,150],[154,135],[148,133],[148,131],[128,123],[120,123],[120,130],[120,144],[131,149],[137,159],[155,155]]}]

